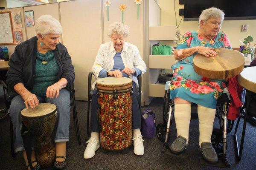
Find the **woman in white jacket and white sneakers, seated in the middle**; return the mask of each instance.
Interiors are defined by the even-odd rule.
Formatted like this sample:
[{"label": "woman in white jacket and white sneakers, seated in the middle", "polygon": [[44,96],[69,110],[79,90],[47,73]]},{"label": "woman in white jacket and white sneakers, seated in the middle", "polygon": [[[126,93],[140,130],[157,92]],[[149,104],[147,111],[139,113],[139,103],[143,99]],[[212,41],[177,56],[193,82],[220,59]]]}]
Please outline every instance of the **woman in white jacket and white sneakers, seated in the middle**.
[{"label": "woman in white jacket and white sneakers, seated in the middle", "polygon": [[[93,74],[97,78],[103,77],[128,77],[133,81],[133,103],[132,103],[132,128],[133,145],[136,155],[144,154],[143,139],[140,133],[140,96],[136,90],[138,87],[137,76],[145,73],[146,65],[140,56],[138,48],[128,42],[125,42],[129,33],[128,26],[123,23],[113,23],[109,28],[108,37],[111,42],[100,45],[96,60],[93,64]],[[97,122],[97,96],[96,90],[92,96],[92,110],[90,119],[91,137],[87,141],[87,147],[84,151],[84,159],[92,158],[95,151],[99,148],[99,123]]]}]

